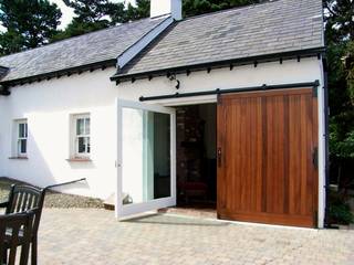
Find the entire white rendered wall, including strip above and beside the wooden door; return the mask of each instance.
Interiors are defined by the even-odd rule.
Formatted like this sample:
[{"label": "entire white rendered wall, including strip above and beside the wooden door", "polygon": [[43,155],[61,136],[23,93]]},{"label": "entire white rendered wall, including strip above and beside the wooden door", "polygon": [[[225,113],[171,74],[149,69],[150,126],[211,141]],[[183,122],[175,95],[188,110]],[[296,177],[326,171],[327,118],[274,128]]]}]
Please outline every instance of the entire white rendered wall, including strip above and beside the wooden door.
[{"label": "entire white rendered wall, including strip above and beside the wooden door", "polygon": [[[115,86],[110,82],[114,68],[72,75],[11,88],[9,97],[0,97],[0,176],[18,178],[46,186],[79,178],[87,184],[65,189],[67,192],[106,198],[116,183],[116,107],[115,99],[137,102],[140,96],[176,93],[176,82],[166,77]],[[324,115],[321,61],[303,59],[177,75],[179,93],[237,88],[262,84],[314,82],[319,87],[319,150],[320,189],[319,224],[323,225],[324,210]],[[178,98],[158,102],[166,106],[215,102],[216,96]],[[153,104],[148,102],[147,104]],[[91,113],[92,162],[67,162],[70,148],[70,115]],[[10,160],[12,120],[28,118],[29,160]]]}]

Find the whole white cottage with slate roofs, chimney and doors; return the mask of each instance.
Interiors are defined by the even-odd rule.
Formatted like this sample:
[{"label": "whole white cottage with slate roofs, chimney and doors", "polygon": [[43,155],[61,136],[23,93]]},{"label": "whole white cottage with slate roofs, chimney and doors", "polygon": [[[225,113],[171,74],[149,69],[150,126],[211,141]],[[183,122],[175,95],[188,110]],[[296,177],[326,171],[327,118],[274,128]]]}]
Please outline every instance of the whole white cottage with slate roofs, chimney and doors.
[{"label": "whole white cottage with slate roofs, chimney and doors", "polygon": [[152,17],[3,56],[0,176],[106,199],[324,225],[321,0]]}]

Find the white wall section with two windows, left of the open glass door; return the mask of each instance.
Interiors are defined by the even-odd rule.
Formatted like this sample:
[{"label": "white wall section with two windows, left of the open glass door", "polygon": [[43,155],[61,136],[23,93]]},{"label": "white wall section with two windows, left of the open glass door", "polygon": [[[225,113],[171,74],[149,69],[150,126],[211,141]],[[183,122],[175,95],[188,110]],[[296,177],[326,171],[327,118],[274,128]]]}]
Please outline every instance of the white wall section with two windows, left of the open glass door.
[{"label": "white wall section with two windows, left of the open glass door", "polygon": [[[86,178],[62,190],[107,198],[115,191],[117,89],[108,77],[115,68],[12,87],[0,97],[0,176],[45,187]],[[72,114],[91,114],[92,162],[70,162]],[[12,160],[13,119],[27,118],[28,160]]]}]

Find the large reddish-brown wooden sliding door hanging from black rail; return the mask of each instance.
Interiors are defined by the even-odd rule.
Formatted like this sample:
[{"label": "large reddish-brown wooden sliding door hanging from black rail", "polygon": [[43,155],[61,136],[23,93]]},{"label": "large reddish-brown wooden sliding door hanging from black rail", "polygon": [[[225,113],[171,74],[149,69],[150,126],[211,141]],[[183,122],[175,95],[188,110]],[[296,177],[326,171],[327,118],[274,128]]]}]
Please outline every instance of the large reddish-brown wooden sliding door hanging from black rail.
[{"label": "large reddish-brown wooden sliding door hanging from black rail", "polygon": [[220,96],[219,218],[316,226],[316,149],[312,89]]}]

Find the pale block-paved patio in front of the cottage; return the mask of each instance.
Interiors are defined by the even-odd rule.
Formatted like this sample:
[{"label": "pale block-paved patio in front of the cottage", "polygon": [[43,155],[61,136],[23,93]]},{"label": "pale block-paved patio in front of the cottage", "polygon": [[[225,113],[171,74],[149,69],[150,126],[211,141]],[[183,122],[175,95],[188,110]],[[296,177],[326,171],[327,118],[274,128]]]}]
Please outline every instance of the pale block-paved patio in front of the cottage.
[{"label": "pale block-paved patio in front of the cottage", "polygon": [[353,264],[354,231],[231,224],[174,215],[117,222],[95,209],[45,209],[40,264]]}]

